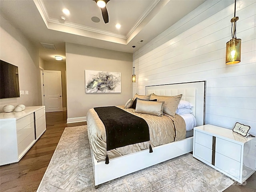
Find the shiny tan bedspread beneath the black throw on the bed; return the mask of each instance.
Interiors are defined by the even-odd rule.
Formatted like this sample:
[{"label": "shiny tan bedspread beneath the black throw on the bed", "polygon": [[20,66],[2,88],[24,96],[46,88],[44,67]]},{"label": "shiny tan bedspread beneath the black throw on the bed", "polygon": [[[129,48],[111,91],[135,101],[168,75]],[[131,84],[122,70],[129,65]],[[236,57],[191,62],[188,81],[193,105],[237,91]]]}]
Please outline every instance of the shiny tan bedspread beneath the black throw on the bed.
[{"label": "shiny tan bedspread beneath the black throw on the bed", "polygon": [[[139,116],[146,120],[149,127],[150,141],[132,144],[108,151],[108,158],[115,158],[148,149],[151,144],[154,153],[154,147],[170,143],[173,141],[182,140],[186,136],[186,124],[184,119],[176,114],[176,118],[164,114],[164,116],[154,116],[135,112],[135,109],[124,109],[124,106],[117,106],[127,112]],[[87,130],[94,157],[97,161],[106,159],[106,130],[104,124],[98,117],[96,111],[92,108],[88,111]]]}]

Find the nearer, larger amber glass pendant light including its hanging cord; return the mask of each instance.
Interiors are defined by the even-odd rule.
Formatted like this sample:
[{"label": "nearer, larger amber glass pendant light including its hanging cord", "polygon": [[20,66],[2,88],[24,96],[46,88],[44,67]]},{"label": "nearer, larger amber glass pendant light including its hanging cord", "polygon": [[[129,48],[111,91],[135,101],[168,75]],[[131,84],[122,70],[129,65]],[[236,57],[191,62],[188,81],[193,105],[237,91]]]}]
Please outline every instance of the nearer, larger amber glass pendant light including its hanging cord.
[{"label": "nearer, larger amber glass pendant light including its hanging cord", "polygon": [[226,64],[236,64],[241,62],[241,39],[236,38],[236,21],[239,18],[236,17],[236,0],[235,0],[235,12],[234,17],[231,19],[232,27],[232,39],[226,43]]}]

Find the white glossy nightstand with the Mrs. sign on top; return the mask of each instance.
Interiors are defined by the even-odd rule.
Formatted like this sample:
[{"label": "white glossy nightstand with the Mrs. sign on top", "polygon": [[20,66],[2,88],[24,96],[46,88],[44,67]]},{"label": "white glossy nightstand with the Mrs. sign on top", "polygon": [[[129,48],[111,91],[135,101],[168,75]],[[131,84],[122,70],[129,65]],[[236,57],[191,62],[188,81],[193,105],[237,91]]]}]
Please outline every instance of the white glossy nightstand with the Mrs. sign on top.
[{"label": "white glossy nightstand with the Mrs. sign on top", "polygon": [[194,128],[193,157],[243,183],[255,172],[255,141],[230,129],[198,126]]}]

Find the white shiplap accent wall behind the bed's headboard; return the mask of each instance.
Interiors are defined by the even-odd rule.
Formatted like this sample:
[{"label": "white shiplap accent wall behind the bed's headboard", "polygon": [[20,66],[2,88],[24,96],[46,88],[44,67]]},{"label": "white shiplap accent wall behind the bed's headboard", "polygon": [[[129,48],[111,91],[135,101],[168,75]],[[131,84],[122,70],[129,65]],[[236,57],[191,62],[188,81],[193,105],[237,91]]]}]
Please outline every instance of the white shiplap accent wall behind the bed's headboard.
[{"label": "white shiplap accent wall behind the bed's headboard", "polygon": [[[208,17],[195,22],[193,15]],[[206,80],[206,124],[231,129],[240,122],[256,134],[256,1],[236,2],[241,62],[226,65],[233,16],[234,1],[206,1],[136,51],[133,93],[145,94],[147,85]]]}]

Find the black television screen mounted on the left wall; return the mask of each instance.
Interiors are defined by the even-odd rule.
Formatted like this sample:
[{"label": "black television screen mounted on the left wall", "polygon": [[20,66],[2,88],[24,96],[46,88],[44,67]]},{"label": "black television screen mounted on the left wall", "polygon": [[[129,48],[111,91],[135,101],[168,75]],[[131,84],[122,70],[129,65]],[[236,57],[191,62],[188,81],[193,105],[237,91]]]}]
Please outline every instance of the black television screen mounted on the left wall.
[{"label": "black television screen mounted on the left wall", "polygon": [[0,98],[20,97],[18,67],[0,61]]}]

